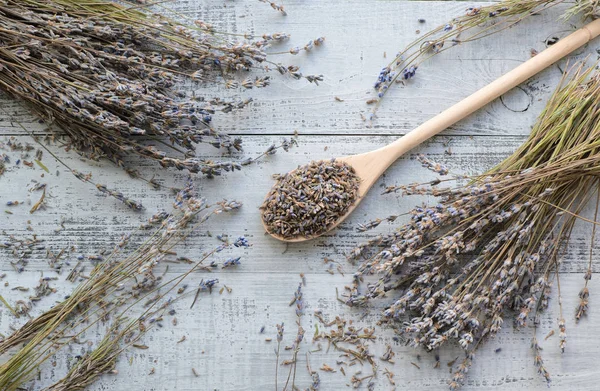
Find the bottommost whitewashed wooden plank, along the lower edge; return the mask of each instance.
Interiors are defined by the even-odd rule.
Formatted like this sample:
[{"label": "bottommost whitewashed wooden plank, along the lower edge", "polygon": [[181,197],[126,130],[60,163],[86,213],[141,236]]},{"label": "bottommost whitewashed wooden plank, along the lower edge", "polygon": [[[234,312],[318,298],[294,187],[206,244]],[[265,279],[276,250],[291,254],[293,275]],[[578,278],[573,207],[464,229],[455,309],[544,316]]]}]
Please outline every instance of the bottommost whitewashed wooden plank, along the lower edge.
[{"label": "bottommost whitewashed wooden plank, along the lower edge", "polygon": [[[290,261],[281,260],[283,261]],[[246,266],[250,268],[251,265]],[[172,275],[172,273],[169,273]],[[282,346],[292,344],[297,326],[293,307],[289,307],[290,299],[300,282],[297,274],[287,271],[269,273],[240,273],[239,271],[222,271],[210,273],[210,277],[218,277],[221,283],[232,287],[232,292],[213,292],[212,295],[201,295],[193,309],[189,309],[190,300],[175,305],[178,325],[171,325],[171,316],[167,316],[163,328],[150,330],[141,342],[147,345],[147,350],[132,348],[119,360],[117,375],[103,376],[101,380],[89,387],[90,390],[265,390],[275,389],[276,359],[276,324],[284,322],[285,332]],[[197,274],[190,278],[190,284],[197,284],[200,277]],[[9,279],[11,286],[33,285],[39,274],[26,272],[18,277]],[[356,326],[373,327],[378,319],[378,312],[383,302],[373,303],[366,317],[363,311],[348,309],[335,300],[335,288],[342,290],[348,283],[348,276],[331,276],[328,274],[311,273],[307,271],[307,285],[303,287],[305,315],[302,326],[306,329],[304,342],[301,344],[296,384],[305,389],[310,384],[306,369],[306,352],[318,350],[318,343],[312,343],[317,320],[313,317],[315,310],[321,310],[326,320],[332,320],[340,315],[346,320],[353,320]],[[561,354],[558,348],[558,317],[557,301],[551,301],[550,311],[543,314],[537,332],[542,344],[543,358],[548,371],[552,374],[552,387],[557,389],[595,390],[599,369],[594,357],[600,353],[600,342],[596,338],[597,324],[600,319],[598,311],[592,307],[587,319],[578,325],[572,319],[573,309],[577,305],[577,293],[583,279],[575,275],[561,276],[563,289],[563,305],[567,318],[567,349]],[[14,295],[10,287],[1,287],[3,295]],[[591,280],[591,301],[594,302],[600,291],[596,279]],[[554,295],[556,292],[554,292]],[[19,294],[18,296],[24,296]],[[6,297],[6,296],[5,296]],[[39,312],[48,308],[56,297],[48,297],[35,307]],[[12,299],[14,300],[14,298]],[[7,331],[9,324],[16,325],[14,318],[4,308],[0,309],[0,328]],[[23,320],[24,321],[24,320]],[[260,333],[262,327],[264,333]],[[106,325],[94,327],[88,338],[94,340],[96,333],[102,335]],[[319,324],[319,330],[326,330]],[[544,341],[550,330],[555,334]],[[469,371],[468,382],[464,390],[545,390],[545,381],[536,373],[533,366],[533,356],[529,343],[533,330],[527,327],[523,330],[513,330],[507,319],[505,328],[500,334],[490,340],[477,354],[477,359]],[[177,343],[182,336],[186,340]],[[381,371],[388,368],[395,373],[394,381],[397,390],[440,390],[446,389],[446,381],[450,377],[447,364],[456,357],[462,357],[459,349],[449,348],[440,351],[441,365],[433,368],[434,355],[422,350],[414,350],[393,340],[394,335],[389,329],[377,329],[377,340],[369,344],[369,350],[376,357],[380,373],[374,380],[376,390],[394,389]],[[272,338],[267,342],[266,338]],[[396,356],[395,364],[382,362],[379,357],[384,353],[386,345],[393,347]],[[368,365],[345,367],[346,376],[340,371],[336,361],[340,360],[340,352],[333,347],[327,352],[327,343],[321,342],[322,350],[309,356],[311,367],[315,370],[323,364],[337,369],[336,373],[319,371],[322,390],[351,389],[347,387],[349,378],[361,370],[363,376],[371,373]],[[496,349],[501,349],[495,352]],[[85,345],[74,345],[72,350],[65,351],[48,362],[36,382],[36,389],[41,385],[56,381],[67,370],[68,362],[74,356],[82,354]],[[289,360],[290,351],[281,349],[281,360]],[[131,364],[130,364],[131,360]],[[52,366],[56,362],[56,366]],[[411,365],[414,362],[420,369]],[[154,375],[149,375],[152,368]],[[192,373],[194,368],[198,377]],[[279,368],[279,389],[283,388],[289,367]],[[289,388],[288,388],[289,389]],[[366,384],[360,389],[366,389]]]}]

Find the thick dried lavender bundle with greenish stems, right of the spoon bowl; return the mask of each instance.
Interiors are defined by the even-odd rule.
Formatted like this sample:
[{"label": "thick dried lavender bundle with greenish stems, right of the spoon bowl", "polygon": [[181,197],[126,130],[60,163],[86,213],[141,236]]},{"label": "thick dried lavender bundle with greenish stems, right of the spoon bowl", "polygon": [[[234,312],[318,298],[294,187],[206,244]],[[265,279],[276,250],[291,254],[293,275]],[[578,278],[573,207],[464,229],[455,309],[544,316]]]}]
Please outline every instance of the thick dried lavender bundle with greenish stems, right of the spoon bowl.
[{"label": "thick dried lavender bundle with greenish stems, right of the spoon bowl", "polygon": [[[513,155],[464,186],[453,179],[388,188],[440,198],[417,207],[392,234],[357,247],[366,257],[355,274],[350,305],[393,296],[382,320],[410,339],[436,350],[458,344],[465,359],[450,388],[465,380],[474,352],[511,319],[534,322],[548,306],[551,280],[577,219],[598,187],[600,174],[600,74],[579,67],[555,91],[532,133]],[[447,169],[426,158],[425,166]],[[360,291],[363,276],[379,278]],[[586,273],[586,281],[591,271]],[[587,285],[582,290],[587,310]],[[560,308],[560,344],[566,346]],[[549,381],[537,340],[535,365]]]}]

